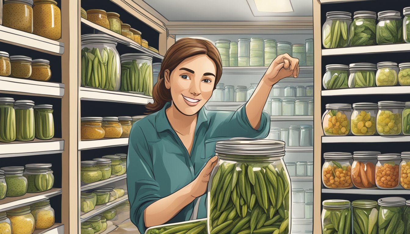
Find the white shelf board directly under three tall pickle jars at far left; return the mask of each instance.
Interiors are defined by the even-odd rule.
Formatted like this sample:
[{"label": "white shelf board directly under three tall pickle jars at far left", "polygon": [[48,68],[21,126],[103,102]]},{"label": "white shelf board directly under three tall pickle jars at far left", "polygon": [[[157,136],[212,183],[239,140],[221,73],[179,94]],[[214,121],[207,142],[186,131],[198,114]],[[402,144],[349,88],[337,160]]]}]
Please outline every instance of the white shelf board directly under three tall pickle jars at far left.
[{"label": "white shelf board directly under three tall pickle jars at far left", "polygon": [[0,143],[0,158],[31,156],[38,154],[57,154],[64,151],[64,140],[12,141]]}]

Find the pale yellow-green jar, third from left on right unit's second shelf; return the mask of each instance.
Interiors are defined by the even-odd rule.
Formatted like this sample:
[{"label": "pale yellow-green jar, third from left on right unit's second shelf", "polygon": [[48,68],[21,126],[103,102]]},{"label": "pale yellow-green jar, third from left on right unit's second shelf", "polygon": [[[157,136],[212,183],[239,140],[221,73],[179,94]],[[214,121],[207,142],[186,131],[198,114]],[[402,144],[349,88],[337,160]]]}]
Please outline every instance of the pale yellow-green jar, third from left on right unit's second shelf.
[{"label": "pale yellow-green jar, third from left on right unit's second shelf", "polygon": [[395,86],[399,79],[399,67],[394,62],[381,62],[377,64],[376,85]]}]

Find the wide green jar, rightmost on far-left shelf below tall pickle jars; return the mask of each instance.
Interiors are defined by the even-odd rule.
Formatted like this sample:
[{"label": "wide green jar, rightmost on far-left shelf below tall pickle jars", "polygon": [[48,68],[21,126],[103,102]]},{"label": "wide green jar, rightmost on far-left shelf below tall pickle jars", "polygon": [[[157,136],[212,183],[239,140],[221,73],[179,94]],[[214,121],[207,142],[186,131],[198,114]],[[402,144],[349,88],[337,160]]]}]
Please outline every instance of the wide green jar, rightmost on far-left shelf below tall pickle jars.
[{"label": "wide green jar, rightmost on far-left shelf below tall pickle jars", "polygon": [[27,179],[27,193],[48,191],[54,185],[52,164],[26,164],[23,176]]}]

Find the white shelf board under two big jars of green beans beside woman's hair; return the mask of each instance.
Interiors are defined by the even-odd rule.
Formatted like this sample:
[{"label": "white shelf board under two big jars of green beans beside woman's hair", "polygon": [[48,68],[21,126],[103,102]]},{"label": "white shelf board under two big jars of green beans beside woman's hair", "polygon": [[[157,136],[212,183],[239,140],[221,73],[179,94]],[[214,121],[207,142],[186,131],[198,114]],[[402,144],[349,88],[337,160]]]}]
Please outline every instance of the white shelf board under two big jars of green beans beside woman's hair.
[{"label": "white shelf board under two big jars of green beans beside woman's hair", "polygon": [[79,87],[78,97],[80,98],[80,100],[121,102],[141,105],[146,105],[154,101],[152,97],[143,94],[127,93],[121,91],[108,91],[87,87]]}]

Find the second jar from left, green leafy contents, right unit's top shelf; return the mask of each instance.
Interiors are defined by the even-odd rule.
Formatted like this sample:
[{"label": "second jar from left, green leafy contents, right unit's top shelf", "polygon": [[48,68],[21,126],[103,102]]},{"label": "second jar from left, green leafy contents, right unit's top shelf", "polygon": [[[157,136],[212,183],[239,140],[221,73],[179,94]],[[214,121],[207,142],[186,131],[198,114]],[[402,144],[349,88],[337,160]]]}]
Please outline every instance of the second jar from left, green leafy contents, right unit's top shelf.
[{"label": "second jar from left, green leafy contents, right unit's top shelf", "polygon": [[350,46],[376,45],[376,12],[355,11],[350,25]]}]

